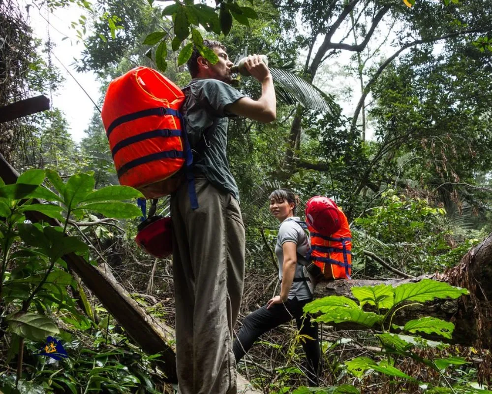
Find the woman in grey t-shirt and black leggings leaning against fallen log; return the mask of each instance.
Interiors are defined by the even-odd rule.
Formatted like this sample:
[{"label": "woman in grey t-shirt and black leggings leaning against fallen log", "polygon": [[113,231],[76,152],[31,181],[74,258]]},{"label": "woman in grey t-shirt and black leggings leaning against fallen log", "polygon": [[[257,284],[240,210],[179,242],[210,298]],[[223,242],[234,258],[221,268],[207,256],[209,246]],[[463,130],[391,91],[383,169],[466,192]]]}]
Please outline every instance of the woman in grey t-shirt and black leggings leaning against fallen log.
[{"label": "woman in grey t-shirt and black leggings leaning against fallen log", "polygon": [[[236,362],[251,348],[264,332],[296,319],[297,328],[307,358],[307,378],[310,386],[318,386],[321,350],[318,342],[318,325],[311,317],[303,316],[303,307],[312,301],[312,285],[302,263],[309,249],[306,232],[295,216],[299,197],[287,189],[278,189],[270,195],[270,212],[280,222],[275,254],[278,259],[280,294],[266,305],[249,314],[243,321],[233,344]],[[300,262],[303,259],[304,261]],[[308,339],[312,338],[312,339]]]}]

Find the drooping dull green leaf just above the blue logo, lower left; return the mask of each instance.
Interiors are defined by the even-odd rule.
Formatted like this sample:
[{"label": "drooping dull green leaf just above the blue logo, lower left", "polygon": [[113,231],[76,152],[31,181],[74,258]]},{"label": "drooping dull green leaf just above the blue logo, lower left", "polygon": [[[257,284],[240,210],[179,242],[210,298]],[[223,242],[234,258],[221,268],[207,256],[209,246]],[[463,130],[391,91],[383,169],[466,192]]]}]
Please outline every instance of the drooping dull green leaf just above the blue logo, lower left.
[{"label": "drooping dull green leaf just above the blue logo, lower left", "polygon": [[16,312],[7,316],[6,321],[12,332],[33,341],[43,341],[60,332],[55,323],[37,313]]}]

